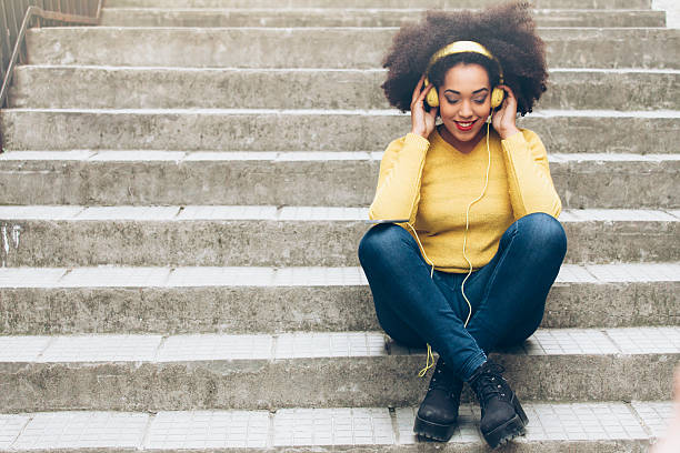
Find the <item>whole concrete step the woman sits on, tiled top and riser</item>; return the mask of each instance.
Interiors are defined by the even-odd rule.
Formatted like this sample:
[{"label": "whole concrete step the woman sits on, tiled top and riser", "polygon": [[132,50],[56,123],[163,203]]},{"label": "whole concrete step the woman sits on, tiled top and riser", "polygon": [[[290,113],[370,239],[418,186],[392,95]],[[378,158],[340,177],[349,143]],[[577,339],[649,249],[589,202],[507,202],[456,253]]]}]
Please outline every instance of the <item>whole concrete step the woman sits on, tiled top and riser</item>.
[{"label": "whole concrete step the woman sits on, tiled top and riser", "polygon": [[[423,350],[381,332],[0,336],[0,411],[418,405]],[[680,328],[539,330],[493,360],[521,401],[663,400]],[[470,401],[463,393],[463,401]]]}]

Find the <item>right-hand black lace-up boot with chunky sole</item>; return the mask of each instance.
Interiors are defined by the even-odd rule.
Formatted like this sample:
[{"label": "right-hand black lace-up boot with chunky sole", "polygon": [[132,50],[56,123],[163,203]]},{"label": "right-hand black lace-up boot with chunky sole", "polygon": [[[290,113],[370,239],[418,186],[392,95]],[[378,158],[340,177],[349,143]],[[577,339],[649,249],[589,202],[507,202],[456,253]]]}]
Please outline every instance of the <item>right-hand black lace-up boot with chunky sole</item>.
[{"label": "right-hand black lace-up boot with chunky sole", "polygon": [[480,431],[492,449],[526,433],[529,423],[517,395],[503,379],[504,369],[484,362],[470,378],[470,386],[481,406]]}]

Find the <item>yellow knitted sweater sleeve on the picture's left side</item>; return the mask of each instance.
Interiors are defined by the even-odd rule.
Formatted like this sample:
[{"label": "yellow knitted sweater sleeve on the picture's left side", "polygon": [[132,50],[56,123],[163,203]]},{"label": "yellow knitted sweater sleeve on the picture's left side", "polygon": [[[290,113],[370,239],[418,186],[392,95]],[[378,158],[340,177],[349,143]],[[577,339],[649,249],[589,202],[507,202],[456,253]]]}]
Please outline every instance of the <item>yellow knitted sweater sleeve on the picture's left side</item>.
[{"label": "yellow knitted sweater sleeve on the picture's left side", "polygon": [[369,209],[371,220],[416,221],[422,168],[430,142],[408,133],[389,144],[382,161],[376,197]]}]

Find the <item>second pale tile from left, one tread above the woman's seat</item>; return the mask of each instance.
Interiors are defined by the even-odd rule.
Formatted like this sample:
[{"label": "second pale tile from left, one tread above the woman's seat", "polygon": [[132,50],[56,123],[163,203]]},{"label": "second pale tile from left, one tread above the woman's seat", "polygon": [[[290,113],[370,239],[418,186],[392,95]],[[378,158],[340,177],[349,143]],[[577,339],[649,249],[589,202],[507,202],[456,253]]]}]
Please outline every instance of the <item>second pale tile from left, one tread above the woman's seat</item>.
[{"label": "second pale tile from left, one tread above the woman's seat", "polygon": [[76,268],[67,273],[62,288],[144,288],[164,286],[169,269],[166,268]]}]

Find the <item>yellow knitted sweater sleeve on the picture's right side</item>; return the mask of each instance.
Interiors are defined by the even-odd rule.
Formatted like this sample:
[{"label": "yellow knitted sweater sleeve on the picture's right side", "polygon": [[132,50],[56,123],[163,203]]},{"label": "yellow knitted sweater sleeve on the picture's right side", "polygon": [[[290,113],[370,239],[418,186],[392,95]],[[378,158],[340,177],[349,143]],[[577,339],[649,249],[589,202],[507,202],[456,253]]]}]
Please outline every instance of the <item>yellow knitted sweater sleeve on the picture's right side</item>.
[{"label": "yellow knitted sweater sleeve on the picture's right side", "polygon": [[557,219],[562,203],[550,177],[541,139],[524,129],[502,140],[501,144],[514,219],[533,212],[544,212]]}]

